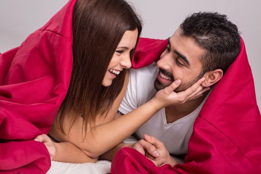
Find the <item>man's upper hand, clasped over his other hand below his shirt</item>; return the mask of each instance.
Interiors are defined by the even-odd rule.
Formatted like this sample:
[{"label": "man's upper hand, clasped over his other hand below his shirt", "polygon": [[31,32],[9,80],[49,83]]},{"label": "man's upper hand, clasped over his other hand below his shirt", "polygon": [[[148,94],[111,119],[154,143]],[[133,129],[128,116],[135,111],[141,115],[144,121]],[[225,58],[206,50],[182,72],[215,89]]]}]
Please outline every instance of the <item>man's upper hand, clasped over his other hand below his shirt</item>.
[{"label": "man's upper hand, clasped over his other hand below his shirt", "polygon": [[164,146],[164,144],[159,141],[157,138],[149,135],[144,135],[144,141],[150,143],[154,148],[154,151],[159,153],[159,156],[155,158],[154,154],[151,154],[150,150],[147,150],[145,156],[150,159],[157,167],[169,164],[171,166],[175,166],[177,162],[171,158],[170,153]]}]

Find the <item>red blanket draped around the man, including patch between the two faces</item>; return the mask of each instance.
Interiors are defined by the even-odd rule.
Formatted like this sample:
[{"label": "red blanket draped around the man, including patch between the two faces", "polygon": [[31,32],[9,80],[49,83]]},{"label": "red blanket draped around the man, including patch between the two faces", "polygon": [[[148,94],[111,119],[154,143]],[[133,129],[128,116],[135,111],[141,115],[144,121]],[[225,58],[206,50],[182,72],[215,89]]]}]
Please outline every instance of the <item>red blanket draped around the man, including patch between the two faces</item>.
[{"label": "red blanket draped around the man, including patch between the two faces", "polygon": [[[158,59],[160,52],[155,49],[164,43],[141,39],[135,60]],[[123,148],[112,161],[111,173],[261,174],[261,115],[242,39],[239,56],[213,88],[195,120],[184,164],[157,168],[138,151]]]}]

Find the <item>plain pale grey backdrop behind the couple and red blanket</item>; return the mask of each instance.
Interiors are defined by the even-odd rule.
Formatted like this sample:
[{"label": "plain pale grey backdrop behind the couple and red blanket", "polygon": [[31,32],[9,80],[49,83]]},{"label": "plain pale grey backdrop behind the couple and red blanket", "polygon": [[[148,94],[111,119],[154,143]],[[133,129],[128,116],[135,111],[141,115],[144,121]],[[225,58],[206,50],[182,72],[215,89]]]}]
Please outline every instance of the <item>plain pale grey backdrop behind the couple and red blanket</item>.
[{"label": "plain pale grey backdrop behind the couple and red blanket", "polygon": [[[17,47],[68,0],[0,0],[0,53]],[[143,19],[142,37],[166,39],[185,16],[198,11],[227,14],[241,31],[261,108],[260,0],[128,0]],[[233,90],[233,89],[231,89]]]}]

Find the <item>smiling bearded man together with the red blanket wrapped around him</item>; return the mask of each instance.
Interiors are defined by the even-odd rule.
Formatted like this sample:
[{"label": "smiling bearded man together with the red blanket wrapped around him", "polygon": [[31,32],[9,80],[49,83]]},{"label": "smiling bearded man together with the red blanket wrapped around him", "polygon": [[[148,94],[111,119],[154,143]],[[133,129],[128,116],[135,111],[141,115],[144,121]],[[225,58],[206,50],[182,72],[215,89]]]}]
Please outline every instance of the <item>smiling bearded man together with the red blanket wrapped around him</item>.
[{"label": "smiling bearded man together with the red blanket wrapped around him", "polygon": [[[140,141],[122,143],[108,152],[106,155],[111,157],[121,147],[132,147],[143,155],[133,149],[121,149],[111,172],[260,172],[261,115],[237,26],[226,15],[194,13],[165,43],[140,40],[136,60],[155,60],[159,50],[167,44],[168,47],[157,66],[131,70],[128,90],[119,108],[121,114],[142,105],[156,90],[177,79],[182,83],[175,91],[185,90],[202,77],[206,79],[202,86],[212,89],[192,101],[163,108],[135,132]],[[185,157],[184,164],[178,164],[170,154]],[[155,168],[148,159],[156,166],[169,164],[174,168]]]}]

